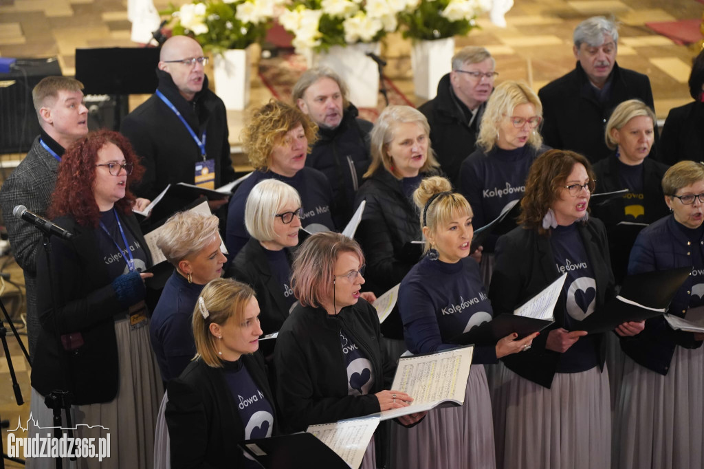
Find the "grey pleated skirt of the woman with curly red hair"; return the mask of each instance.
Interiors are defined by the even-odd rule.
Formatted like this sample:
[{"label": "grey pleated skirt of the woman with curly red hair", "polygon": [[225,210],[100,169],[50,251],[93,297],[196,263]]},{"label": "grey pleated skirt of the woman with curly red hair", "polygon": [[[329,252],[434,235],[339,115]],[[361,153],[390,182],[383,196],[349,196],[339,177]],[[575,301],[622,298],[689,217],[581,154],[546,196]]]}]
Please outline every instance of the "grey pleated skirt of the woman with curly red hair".
[{"label": "grey pleated skirt of the woman with curly red hair", "polygon": [[[128,318],[116,320],[115,336],[118,343],[119,367],[117,396],[104,404],[87,404],[72,408],[74,425],[99,425],[93,428],[78,427],[74,436],[96,438],[97,447],[97,439],[110,434],[110,457],[103,461],[98,461],[98,458],[82,458],[72,467],[141,469],[151,468],[153,463],[156,414],[161,404],[163,384],[151,351],[149,324],[130,331]],[[47,426],[51,425],[51,411],[44,405],[42,396],[34,389],[32,391],[32,411],[37,408],[39,416],[45,419]],[[51,459],[34,459],[27,463],[30,468],[56,467]]]}]

